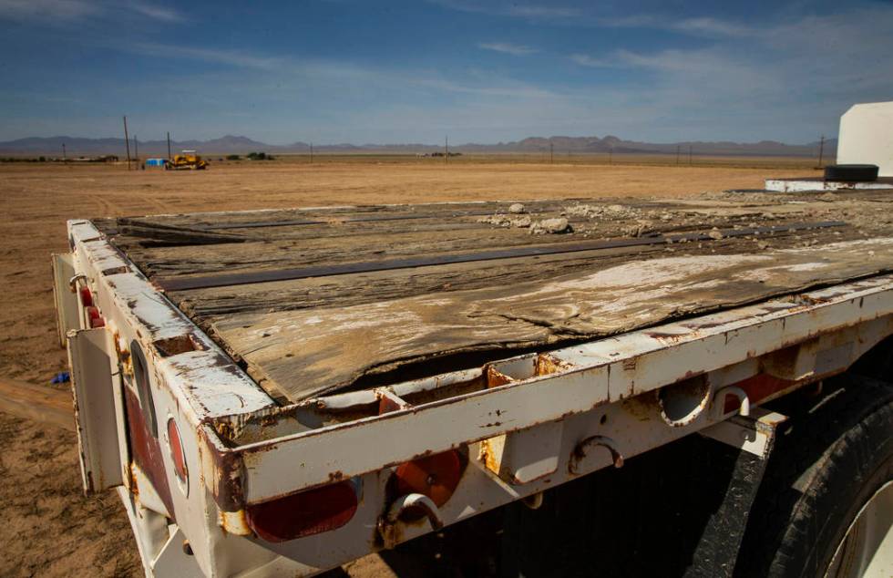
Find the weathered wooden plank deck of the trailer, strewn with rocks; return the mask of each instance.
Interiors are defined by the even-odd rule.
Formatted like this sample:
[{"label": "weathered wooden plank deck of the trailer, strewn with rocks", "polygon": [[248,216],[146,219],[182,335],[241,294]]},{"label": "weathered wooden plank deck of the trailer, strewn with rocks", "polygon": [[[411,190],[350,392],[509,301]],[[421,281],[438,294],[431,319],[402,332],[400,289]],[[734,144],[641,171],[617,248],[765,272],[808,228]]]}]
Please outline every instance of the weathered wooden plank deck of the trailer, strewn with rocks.
[{"label": "weathered wooden plank deck of the trailer, strewn with rocks", "polygon": [[[504,201],[94,222],[272,397],[294,402],[893,271],[891,199],[729,193],[525,201],[523,213]],[[570,229],[531,232],[556,218]]]}]

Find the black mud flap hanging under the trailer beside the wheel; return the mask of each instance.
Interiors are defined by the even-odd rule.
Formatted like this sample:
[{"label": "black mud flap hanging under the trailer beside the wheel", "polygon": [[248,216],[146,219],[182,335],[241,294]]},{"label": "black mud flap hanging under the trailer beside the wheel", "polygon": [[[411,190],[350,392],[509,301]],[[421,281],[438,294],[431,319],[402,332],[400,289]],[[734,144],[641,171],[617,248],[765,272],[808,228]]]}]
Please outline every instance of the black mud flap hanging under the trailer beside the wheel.
[{"label": "black mud flap hanging under the trailer beside the wheel", "polygon": [[505,509],[503,576],[731,576],[775,427],[754,410]]}]

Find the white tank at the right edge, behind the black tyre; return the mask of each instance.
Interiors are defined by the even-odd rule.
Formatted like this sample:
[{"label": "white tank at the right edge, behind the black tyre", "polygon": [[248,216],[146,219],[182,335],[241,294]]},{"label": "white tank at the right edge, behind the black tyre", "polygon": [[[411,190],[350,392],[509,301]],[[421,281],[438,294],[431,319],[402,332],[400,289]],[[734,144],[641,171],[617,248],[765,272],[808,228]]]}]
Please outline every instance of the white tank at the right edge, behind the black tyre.
[{"label": "white tank at the right edge, behind the black tyre", "polygon": [[893,177],[893,102],[853,105],[837,139],[837,164],[878,165],[878,176]]}]

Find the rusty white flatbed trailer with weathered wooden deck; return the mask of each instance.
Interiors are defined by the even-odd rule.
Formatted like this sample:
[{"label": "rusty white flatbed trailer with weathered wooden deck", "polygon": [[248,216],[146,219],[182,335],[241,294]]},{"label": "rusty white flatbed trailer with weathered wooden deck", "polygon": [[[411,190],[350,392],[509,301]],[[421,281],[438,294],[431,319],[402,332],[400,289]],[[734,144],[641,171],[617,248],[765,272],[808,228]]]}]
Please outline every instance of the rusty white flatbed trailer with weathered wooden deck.
[{"label": "rusty white flatbed trailer with weathered wooden deck", "polygon": [[[312,575],[693,433],[762,464],[755,493],[772,402],[888,358],[891,209],[848,191],[69,221],[85,490],[118,490],[159,576]],[[751,503],[705,573],[731,575]]]}]

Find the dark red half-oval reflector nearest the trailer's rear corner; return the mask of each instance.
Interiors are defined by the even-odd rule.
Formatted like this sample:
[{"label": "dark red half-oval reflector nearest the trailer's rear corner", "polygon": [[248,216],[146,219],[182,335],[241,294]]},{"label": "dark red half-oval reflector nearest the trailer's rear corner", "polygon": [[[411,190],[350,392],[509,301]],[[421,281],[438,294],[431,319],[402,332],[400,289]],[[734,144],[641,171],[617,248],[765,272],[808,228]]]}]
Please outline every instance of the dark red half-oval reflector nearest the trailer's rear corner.
[{"label": "dark red half-oval reflector nearest the trailer's rear corner", "polygon": [[356,512],[350,481],[301,491],[245,509],[251,530],[267,542],[286,542],[341,528]]}]

